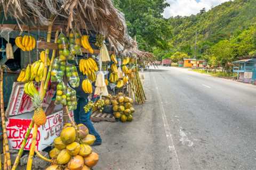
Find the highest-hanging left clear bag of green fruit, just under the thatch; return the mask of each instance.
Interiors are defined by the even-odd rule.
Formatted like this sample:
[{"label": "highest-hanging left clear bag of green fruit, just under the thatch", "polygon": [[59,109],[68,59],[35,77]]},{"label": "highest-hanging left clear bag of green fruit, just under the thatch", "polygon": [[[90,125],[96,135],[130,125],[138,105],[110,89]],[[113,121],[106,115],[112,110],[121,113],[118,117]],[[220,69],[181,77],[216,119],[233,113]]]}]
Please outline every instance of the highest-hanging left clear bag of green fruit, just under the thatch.
[{"label": "highest-hanging left clear bag of green fruit, just under the thatch", "polygon": [[60,58],[60,62],[62,61],[66,61],[68,56],[69,56],[69,49],[68,49],[68,39],[65,35],[63,35],[63,33],[60,33],[58,40],[58,48],[59,48],[59,58]]}]

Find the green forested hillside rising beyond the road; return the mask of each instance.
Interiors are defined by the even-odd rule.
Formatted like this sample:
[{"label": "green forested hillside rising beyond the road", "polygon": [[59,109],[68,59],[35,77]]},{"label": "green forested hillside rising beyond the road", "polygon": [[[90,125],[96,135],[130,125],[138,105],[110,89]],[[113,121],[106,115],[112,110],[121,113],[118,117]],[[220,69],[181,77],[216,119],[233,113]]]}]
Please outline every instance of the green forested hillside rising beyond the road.
[{"label": "green forested hillside rising beyond the road", "polygon": [[[170,18],[169,22],[173,26],[173,38],[171,40],[173,52],[179,50],[194,56],[196,31],[198,57],[209,54],[211,47],[221,40],[229,40],[230,43],[238,46],[243,45],[241,44],[242,41],[249,43],[250,49],[243,50],[242,47],[237,47],[241,48],[242,51],[235,52],[237,54],[234,54],[236,55],[234,57],[248,55],[256,50],[255,0],[235,0],[222,3],[208,12],[186,17],[176,16]],[[254,25],[254,28],[250,28],[251,25]],[[253,36],[254,41],[250,39]],[[250,43],[254,43],[254,47]]]}]

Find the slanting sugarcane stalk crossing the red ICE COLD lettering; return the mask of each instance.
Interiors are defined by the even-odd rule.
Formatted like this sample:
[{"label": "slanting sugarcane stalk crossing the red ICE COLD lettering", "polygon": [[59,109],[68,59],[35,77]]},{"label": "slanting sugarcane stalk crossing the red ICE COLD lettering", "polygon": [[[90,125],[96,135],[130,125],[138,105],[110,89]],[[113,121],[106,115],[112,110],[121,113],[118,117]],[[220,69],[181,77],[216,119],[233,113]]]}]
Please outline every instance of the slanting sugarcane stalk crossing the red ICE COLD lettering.
[{"label": "slanting sugarcane stalk crossing the red ICE COLD lettering", "polygon": [[19,150],[18,155],[17,155],[17,157],[15,159],[15,162],[14,162],[14,164],[12,166],[12,170],[15,170],[17,168],[17,166],[19,165],[19,163],[20,163],[20,158],[21,158],[21,156],[23,154],[24,148],[26,146],[29,134],[30,134],[31,129],[33,128],[33,126],[34,126],[34,117],[32,118],[32,120],[31,120],[31,122],[30,122],[30,124],[28,126],[27,132],[25,134],[25,138],[23,139],[23,141],[21,143],[20,150]]}]

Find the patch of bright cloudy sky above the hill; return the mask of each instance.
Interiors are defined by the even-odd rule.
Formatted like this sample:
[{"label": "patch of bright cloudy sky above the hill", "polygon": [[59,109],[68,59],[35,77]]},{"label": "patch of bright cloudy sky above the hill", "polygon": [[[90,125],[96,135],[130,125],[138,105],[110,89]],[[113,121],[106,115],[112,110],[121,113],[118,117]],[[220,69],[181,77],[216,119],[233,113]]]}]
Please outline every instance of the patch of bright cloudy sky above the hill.
[{"label": "patch of bright cloudy sky above the hill", "polygon": [[165,8],[163,15],[164,18],[177,15],[189,16],[197,14],[204,7],[209,11],[212,7],[227,1],[230,0],[166,0],[170,6]]}]

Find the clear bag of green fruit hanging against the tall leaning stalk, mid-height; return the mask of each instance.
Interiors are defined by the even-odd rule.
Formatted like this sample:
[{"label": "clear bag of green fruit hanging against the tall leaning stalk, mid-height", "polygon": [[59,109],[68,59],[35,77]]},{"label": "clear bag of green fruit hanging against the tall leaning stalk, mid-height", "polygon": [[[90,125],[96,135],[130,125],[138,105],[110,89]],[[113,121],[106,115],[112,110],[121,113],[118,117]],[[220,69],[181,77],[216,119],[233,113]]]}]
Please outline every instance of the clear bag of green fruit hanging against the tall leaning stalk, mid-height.
[{"label": "clear bag of green fruit hanging against the tall leaning stalk, mid-height", "polygon": [[66,70],[66,62],[60,62],[59,58],[55,58],[53,62],[53,69],[51,72],[52,82],[61,82]]}]

